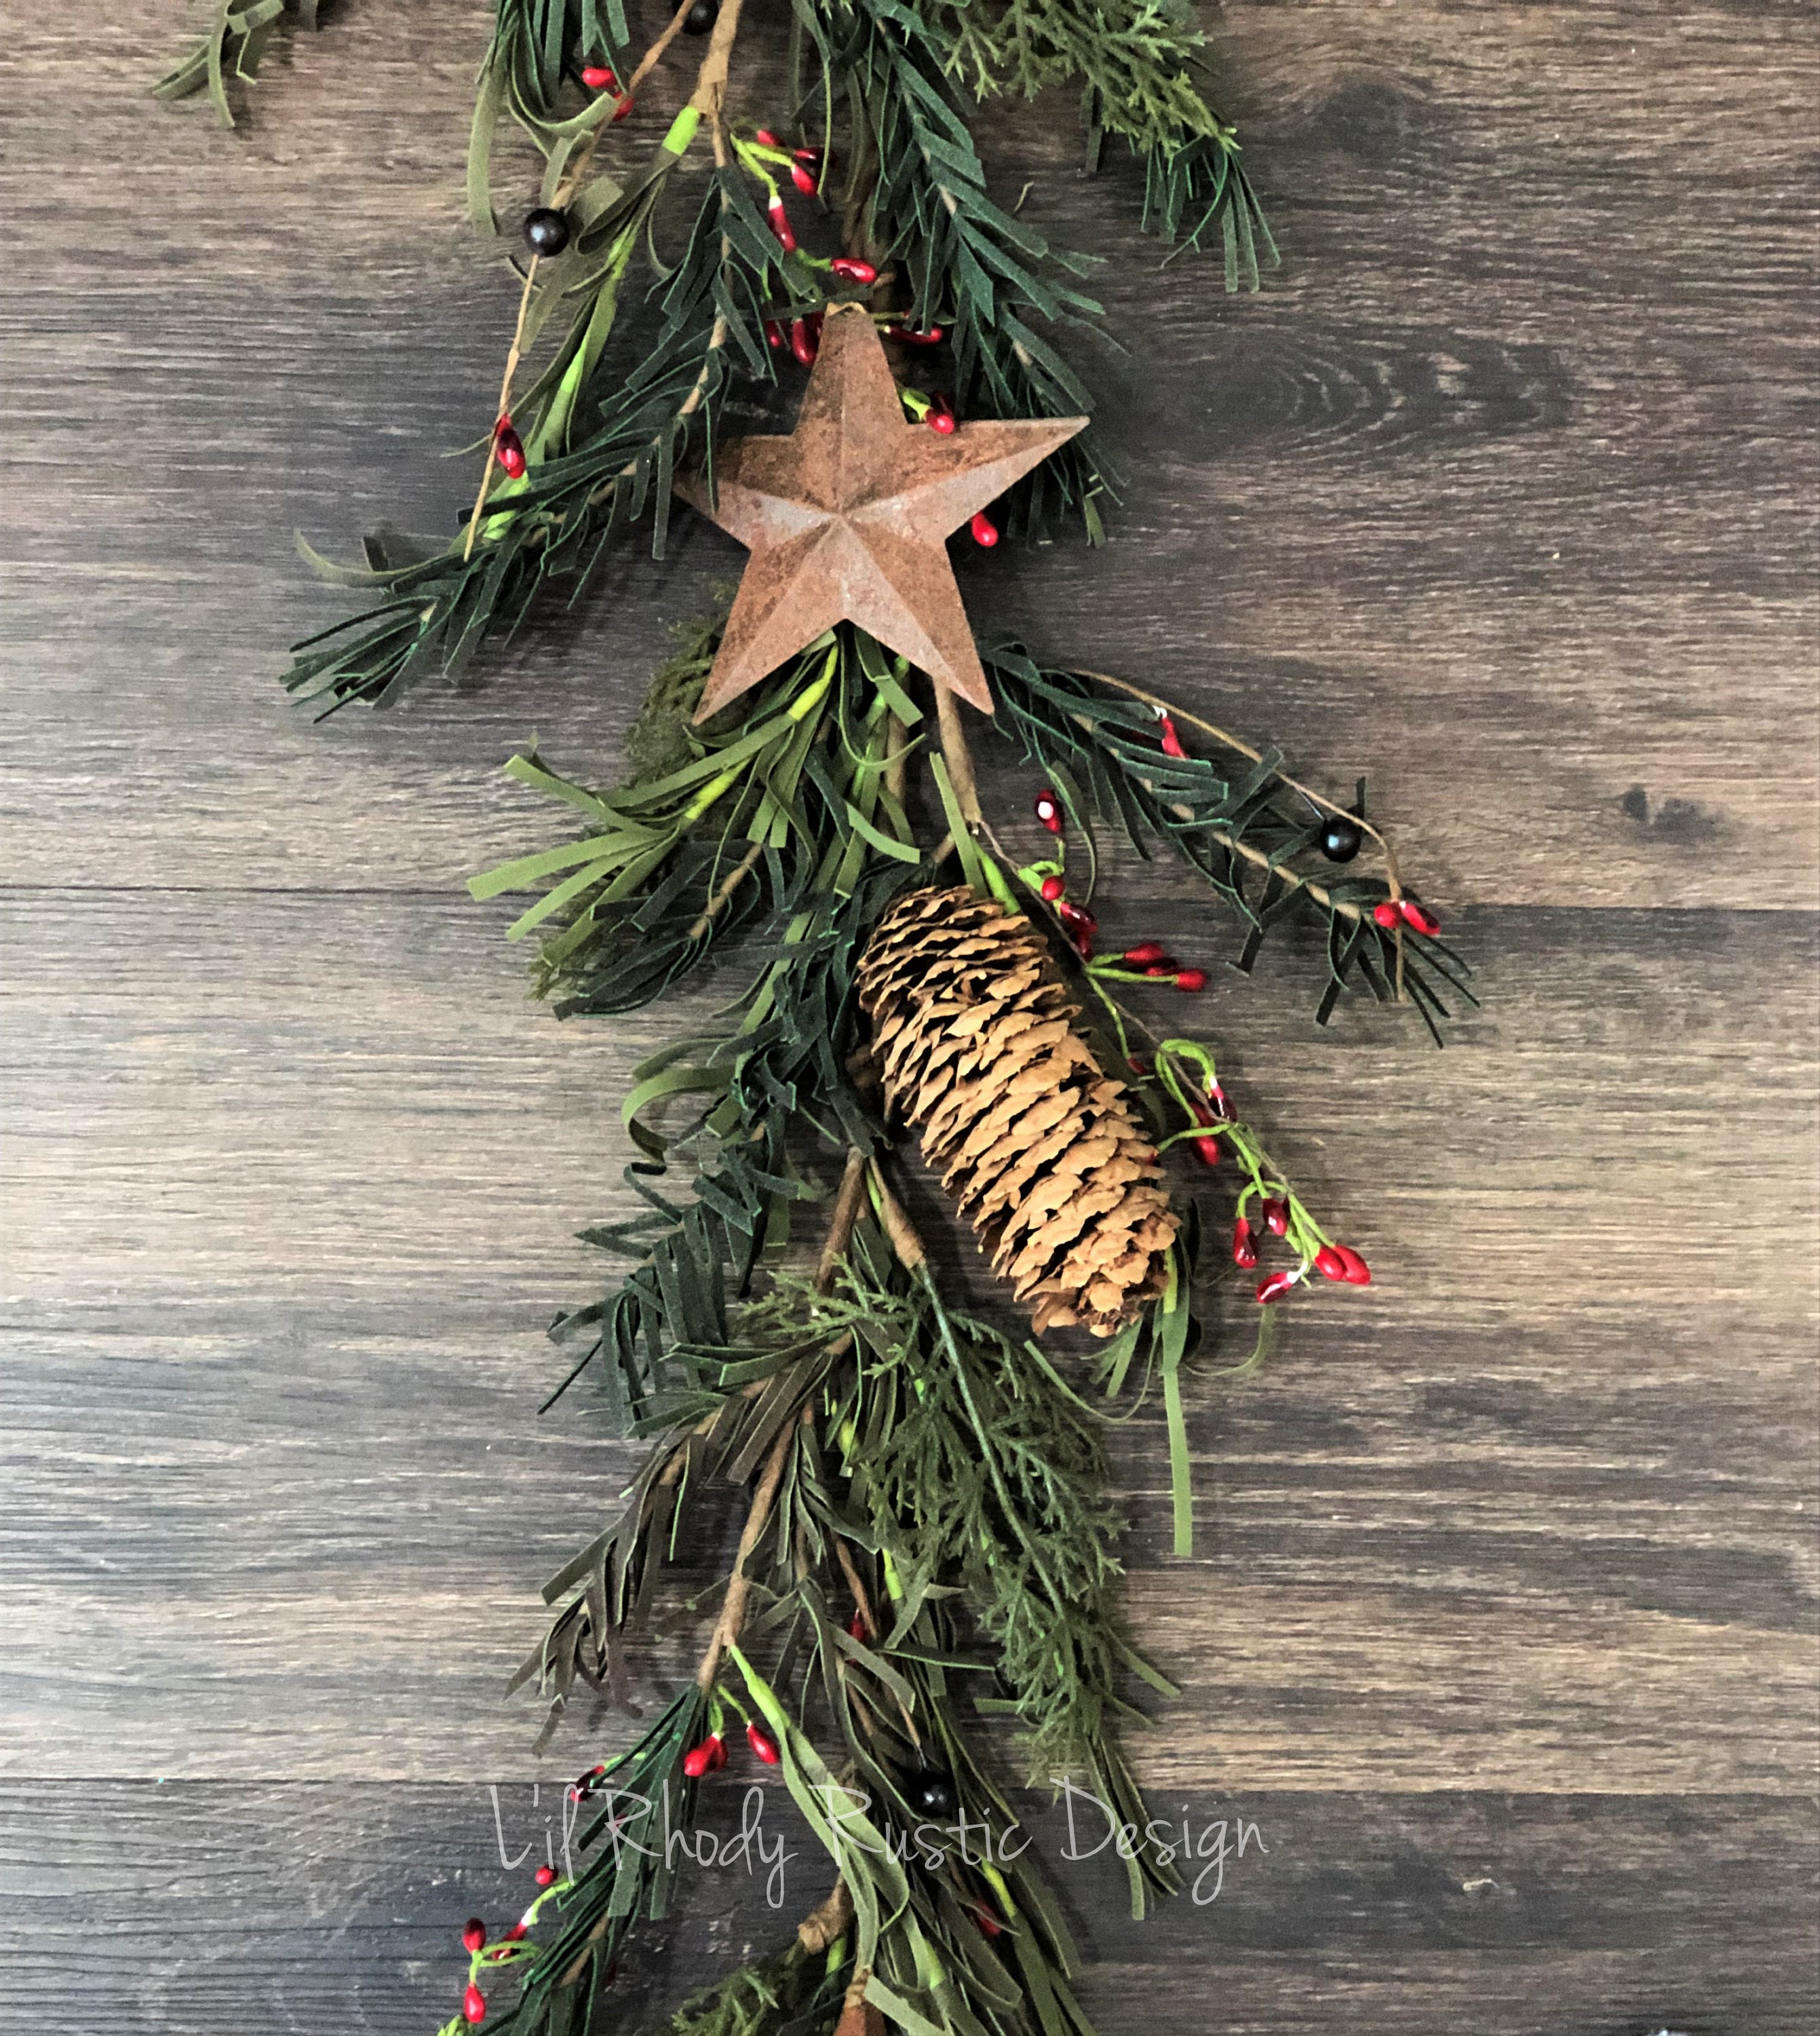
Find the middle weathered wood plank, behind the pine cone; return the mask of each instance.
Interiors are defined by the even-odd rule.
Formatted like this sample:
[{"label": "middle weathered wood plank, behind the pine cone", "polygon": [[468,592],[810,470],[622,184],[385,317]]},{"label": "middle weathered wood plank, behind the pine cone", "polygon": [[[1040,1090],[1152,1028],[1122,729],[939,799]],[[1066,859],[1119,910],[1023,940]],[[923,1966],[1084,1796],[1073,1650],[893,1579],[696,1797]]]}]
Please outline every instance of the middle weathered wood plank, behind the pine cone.
[{"label": "middle weathered wood plank, behind the pine cone", "polygon": [[[1130,930],[1179,939],[1158,878]],[[539,1020],[501,914],[434,898],[10,912],[12,1771],[525,1771],[495,1694],[627,1464],[584,1389],[535,1417],[537,1330],[601,1277],[568,1232],[627,1211],[603,1097],[653,1020]],[[1814,928],[1466,939],[1492,1004],[1441,1055],[1370,1008],[1319,1032],[1293,935],[1205,1012],[1378,1281],[1197,1391],[1191,1568],[1154,1423],[1122,1439],[1134,1617],[1187,1688],[1146,1773],[1806,1788]]]}]

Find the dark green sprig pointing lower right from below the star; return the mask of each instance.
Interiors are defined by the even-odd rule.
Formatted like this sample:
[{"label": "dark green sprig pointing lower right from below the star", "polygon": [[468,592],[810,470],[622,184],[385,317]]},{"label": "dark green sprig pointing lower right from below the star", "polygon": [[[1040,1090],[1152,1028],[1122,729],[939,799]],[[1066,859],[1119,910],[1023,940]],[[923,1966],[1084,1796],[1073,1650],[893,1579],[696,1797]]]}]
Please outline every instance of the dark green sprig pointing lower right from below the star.
[{"label": "dark green sprig pointing lower right from below the star", "polygon": [[[1327,930],[1327,987],[1315,1020],[1327,1024],[1354,981],[1380,1004],[1395,1002],[1397,935],[1372,918],[1388,886],[1331,865],[1311,873],[1325,814],[1285,784],[1281,749],[1256,759],[1234,753],[1232,761],[1171,757],[1152,706],[1091,674],[1038,666],[1016,643],[981,656],[1000,702],[1000,733],[1042,766],[1081,827],[1114,823],[1140,855],[1169,847],[1199,871],[1246,926],[1240,969],[1254,967],[1272,924],[1311,912]],[[1445,998],[1478,1002],[1466,963],[1441,941],[1409,930],[1403,983],[1435,1044],[1452,1016]]]}]

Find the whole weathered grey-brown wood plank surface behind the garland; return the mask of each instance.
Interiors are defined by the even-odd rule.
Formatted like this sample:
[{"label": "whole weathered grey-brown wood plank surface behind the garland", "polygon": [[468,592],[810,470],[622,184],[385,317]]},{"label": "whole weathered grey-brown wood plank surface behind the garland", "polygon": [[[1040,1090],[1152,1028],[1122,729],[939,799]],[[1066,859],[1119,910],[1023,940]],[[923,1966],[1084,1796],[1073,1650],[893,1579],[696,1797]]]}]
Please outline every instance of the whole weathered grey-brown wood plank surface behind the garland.
[{"label": "whole weathered grey-brown wood plank surface behind the garland", "polygon": [[[143,96],[173,0],[0,39],[6,2030],[428,2030],[523,1885],[487,1786],[529,1832],[617,1731],[537,1763],[499,1686],[623,1470],[584,1401],[535,1417],[539,1327],[684,1014],[558,1028],[460,884],[554,831],[499,761],[605,770],[737,554],[694,529],[397,715],[311,731],[273,684],[342,613],[291,529],[448,529],[470,487],[440,454],[511,318],[460,222],[487,14],[342,0],[234,136]],[[1158,273],[1065,108],[991,122],[1110,259],[1134,480],[1110,552],[967,592],[1368,772],[1486,1010],[1443,1055],[1319,1032],[1297,941],[1205,1004],[1378,1283],[1197,1389],[1193,1562],[1154,1425],[1120,1439],[1185,1690],[1144,1775],[1268,1853],[1142,1930],[1067,1869],[1089,1995],[1105,2036],[1808,2030],[1812,18],[1209,26],[1287,269]],[[1226,951],[1167,871],[1112,896]],[[715,1885],[635,1995],[772,1930]]]}]

